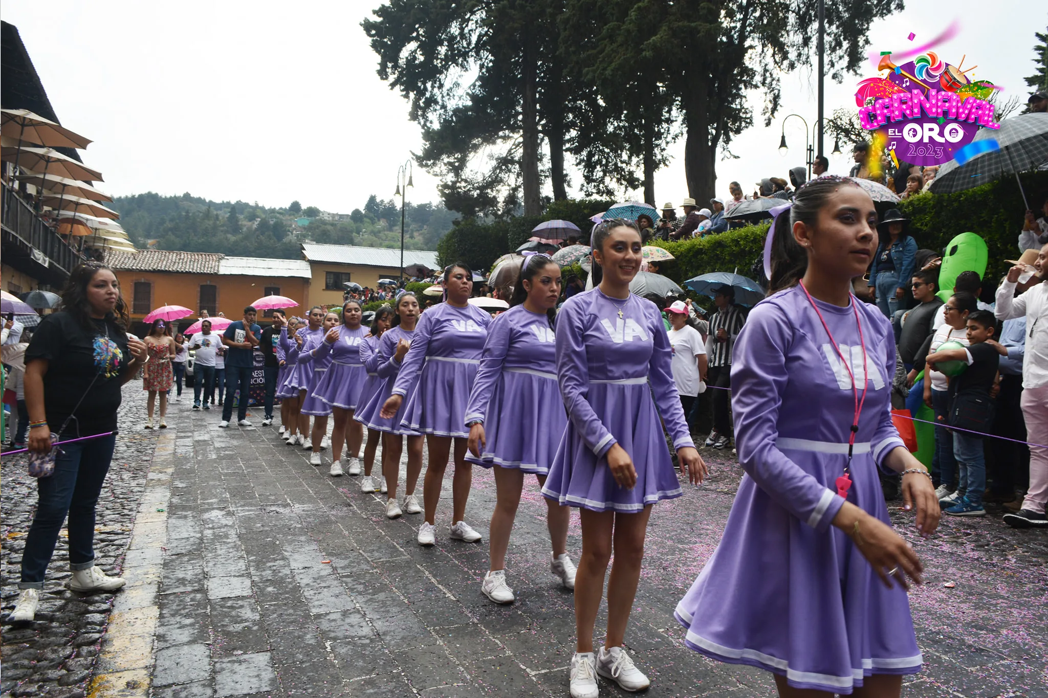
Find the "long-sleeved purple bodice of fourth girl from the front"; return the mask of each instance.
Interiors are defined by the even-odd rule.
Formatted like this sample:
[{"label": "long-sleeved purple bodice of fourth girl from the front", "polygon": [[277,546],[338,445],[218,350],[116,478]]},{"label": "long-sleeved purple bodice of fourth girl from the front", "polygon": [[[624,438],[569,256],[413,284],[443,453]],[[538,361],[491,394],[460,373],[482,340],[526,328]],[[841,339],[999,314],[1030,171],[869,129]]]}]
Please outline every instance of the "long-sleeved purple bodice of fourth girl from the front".
[{"label": "long-sleeved purple bodice of fourth girl from the front", "polygon": [[479,361],[490,323],[492,316],[476,306],[442,302],[428,308],[418,319],[392,395],[408,395],[427,360]]}]

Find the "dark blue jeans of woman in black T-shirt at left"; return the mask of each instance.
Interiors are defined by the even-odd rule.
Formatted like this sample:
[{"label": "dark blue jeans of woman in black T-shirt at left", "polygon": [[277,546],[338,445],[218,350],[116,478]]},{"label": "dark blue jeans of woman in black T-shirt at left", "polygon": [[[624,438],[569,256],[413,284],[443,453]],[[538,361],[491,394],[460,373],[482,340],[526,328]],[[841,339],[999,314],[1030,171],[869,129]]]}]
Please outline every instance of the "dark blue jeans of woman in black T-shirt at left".
[{"label": "dark blue jeans of woman in black T-shirt at left", "polygon": [[54,459],[54,474],[37,480],[37,513],[25,537],[19,589],[44,588],[47,564],[54,554],[66,514],[69,515],[69,568],[94,566],[94,506],[115,446],[116,434],[110,434],[59,447],[62,451]]}]

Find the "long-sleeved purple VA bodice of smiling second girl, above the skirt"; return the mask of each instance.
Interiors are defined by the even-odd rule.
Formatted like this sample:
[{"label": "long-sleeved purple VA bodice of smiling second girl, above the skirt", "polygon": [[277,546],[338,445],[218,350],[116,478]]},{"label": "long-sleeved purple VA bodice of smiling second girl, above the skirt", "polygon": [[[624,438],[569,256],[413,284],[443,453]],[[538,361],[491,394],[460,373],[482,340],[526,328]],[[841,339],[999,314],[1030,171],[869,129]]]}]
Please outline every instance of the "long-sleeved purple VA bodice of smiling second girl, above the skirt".
[{"label": "long-sleeved purple VA bodice of smiling second girl, above the skirt", "polygon": [[655,303],[632,293],[625,300],[601,289],[577,293],[556,316],[555,346],[568,419],[597,457],[617,442],[586,400],[593,382],[647,379],[674,448],[695,446],[670,368],[670,337]]}]

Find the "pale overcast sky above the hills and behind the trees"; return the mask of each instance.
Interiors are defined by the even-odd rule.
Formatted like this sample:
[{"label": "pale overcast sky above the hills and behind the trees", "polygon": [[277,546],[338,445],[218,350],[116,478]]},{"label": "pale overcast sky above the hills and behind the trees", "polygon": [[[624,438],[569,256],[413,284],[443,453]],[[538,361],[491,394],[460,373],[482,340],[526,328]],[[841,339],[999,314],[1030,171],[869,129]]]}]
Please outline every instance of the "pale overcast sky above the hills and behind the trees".
[{"label": "pale overcast sky above the hills and behind the trees", "polygon": [[[918,45],[956,18],[960,32],[936,48],[940,55],[958,63],[966,53],[965,68],[979,66],[976,80],[1025,102],[1033,32],[1048,24],[1038,3],[998,0],[991,10],[973,0],[907,4],[871,27],[871,50]],[[376,0],[8,0],[0,17],[18,27],[62,123],[94,140],[83,159],[102,171],[103,190],[190,192],[267,206],[297,199],[346,212],[370,194],[391,198],[398,164],[421,145],[407,103],[376,75],[376,55],[359,26],[375,6]],[[855,83],[874,72],[843,85],[827,78],[826,115],[854,107]],[[784,115],[814,123],[814,75],[786,74],[782,83],[783,108],[772,126],[742,133],[732,144],[738,159],[717,163],[719,194],[732,180],[751,192],[761,177],[785,178],[804,163],[799,119],[786,128],[787,157],[777,149]],[[759,118],[761,97],[750,99]],[[829,139],[827,154],[832,148]],[[671,153],[656,175],[660,204],[686,196],[683,138]],[[847,153],[831,157],[830,172],[844,174],[848,164]],[[437,201],[433,177],[416,170],[414,182],[409,201]]]}]

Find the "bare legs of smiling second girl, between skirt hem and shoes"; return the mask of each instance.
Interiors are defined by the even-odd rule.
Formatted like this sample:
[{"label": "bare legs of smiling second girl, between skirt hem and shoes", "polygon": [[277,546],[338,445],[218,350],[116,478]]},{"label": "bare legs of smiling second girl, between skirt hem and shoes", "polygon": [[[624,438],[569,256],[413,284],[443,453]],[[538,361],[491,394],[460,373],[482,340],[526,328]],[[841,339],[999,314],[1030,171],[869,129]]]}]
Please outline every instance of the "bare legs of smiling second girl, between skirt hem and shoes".
[{"label": "bare legs of smiling second girl, between skirt hem and shoes", "polygon": [[581,509],[583,554],[575,575],[576,652],[593,651],[593,624],[601,606],[604,577],[611,554],[615,562],[608,580],[608,628],[604,646],[619,647],[637,593],[640,562],[645,557],[645,534],[651,505],[636,514],[592,512]]}]

